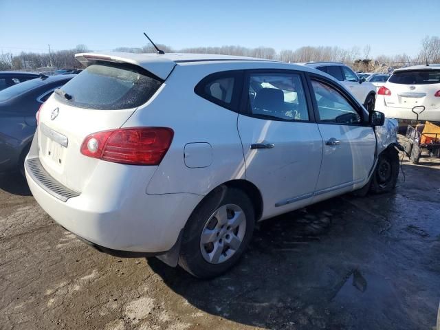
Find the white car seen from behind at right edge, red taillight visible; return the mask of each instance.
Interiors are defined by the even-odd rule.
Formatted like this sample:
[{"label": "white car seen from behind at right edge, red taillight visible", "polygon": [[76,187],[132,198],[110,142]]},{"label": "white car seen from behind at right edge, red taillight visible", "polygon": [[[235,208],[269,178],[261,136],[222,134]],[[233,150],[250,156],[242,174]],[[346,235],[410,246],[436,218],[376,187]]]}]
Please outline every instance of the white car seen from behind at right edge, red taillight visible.
[{"label": "white car seen from behind at right edge, red taillight visible", "polygon": [[411,122],[417,119],[413,108],[419,120],[440,122],[440,64],[395,69],[377,91],[375,109],[388,118]]}]

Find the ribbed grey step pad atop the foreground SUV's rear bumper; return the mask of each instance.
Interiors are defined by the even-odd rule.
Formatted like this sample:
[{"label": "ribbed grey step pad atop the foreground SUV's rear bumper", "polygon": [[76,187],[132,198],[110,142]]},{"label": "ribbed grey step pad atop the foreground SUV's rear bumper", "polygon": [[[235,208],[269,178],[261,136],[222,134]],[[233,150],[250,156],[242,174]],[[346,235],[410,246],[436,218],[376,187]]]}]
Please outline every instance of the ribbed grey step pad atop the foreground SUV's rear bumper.
[{"label": "ribbed grey step pad atop the foreground SUV's rear bumper", "polygon": [[76,192],[63,186],[56,181],[56,179],[51,177],[43,168],[43,165],[41,165],[39,157],[26,159],[25,169],[36,184],[61,201],[67,201],[69,198],[78,197],[80,195],[80,192]]}]

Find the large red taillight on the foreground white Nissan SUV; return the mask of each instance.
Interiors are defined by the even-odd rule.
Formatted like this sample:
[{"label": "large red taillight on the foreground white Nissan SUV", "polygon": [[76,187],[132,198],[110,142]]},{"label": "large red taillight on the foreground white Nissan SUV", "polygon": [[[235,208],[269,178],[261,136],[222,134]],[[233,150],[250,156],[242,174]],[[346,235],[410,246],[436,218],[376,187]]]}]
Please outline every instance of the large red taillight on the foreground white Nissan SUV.
[{"label": "large red taillight on the foreground white Nissan SUV", "polygon": [[121,164],[159,165],[174,132],[166,127],[115,129],[87,135],[80,151],[88,157]]}]

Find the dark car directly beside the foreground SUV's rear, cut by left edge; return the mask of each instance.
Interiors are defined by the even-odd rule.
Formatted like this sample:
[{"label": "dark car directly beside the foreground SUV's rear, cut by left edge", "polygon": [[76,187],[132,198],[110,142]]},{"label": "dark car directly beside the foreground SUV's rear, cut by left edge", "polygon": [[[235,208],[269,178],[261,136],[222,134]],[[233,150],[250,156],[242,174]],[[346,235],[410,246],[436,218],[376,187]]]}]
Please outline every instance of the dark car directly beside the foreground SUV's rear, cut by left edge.
[{"label": "dark car directly beside the foreground SUV's rear, cut by left edge", "polygon": [[0,172],[23,170],[36,129],[36,111],[74,76],[41,76],[0,91]]}]

